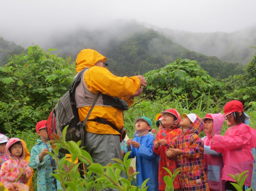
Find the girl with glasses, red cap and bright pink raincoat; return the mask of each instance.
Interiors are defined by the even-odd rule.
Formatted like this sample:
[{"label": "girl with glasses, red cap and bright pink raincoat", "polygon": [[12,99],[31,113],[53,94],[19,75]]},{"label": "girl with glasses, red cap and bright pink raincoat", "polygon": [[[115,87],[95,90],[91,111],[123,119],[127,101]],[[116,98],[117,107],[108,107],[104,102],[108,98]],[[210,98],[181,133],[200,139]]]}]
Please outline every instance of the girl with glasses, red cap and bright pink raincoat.
[{"label": "girl with glasses, red cap and bright pink raincoat", "polygon": [[229,174],[249,171],[243,186],[243,190],[246,190],[251,186],[254,162],[252,148],[256,147],[256,130],[244,123],[248,117],[244,114],[243,104],[238,100],[225,105],[222,117],[227,119],[227,125],[230,127],[224,136],[214,135],[211,149],[223,153],[222,180],[225,180],[225,189],[236,190],[231,184],[235,180]]}]

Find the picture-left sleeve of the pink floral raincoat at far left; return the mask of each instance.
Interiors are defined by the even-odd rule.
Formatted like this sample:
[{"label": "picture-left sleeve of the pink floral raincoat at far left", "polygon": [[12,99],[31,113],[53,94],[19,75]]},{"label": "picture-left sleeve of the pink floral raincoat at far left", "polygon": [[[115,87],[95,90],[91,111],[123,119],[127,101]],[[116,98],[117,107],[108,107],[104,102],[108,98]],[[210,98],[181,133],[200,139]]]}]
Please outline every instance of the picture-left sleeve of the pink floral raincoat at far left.
[{"label": "picture-left sleeve of the pink floral raincoat at far left", "polygon": [[15,181],[18,178],[18,174],[15,172],[12,172],[10,160],[5,161],[4,164],[1,167],[0,175],[1,180],[4,179],[7,182]]}]

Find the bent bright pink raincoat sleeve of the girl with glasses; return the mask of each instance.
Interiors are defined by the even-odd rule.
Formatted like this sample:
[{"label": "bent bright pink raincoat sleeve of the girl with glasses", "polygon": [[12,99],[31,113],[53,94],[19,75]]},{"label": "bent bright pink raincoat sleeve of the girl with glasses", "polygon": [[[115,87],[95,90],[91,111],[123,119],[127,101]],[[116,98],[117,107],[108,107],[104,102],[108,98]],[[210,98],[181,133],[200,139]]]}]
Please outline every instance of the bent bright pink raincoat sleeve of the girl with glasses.
[{"label": "bent bright pink raincoat sleeve of the girl with glasses", "polygon": [[251,140],[251,134],[247,128],[236,129],[235,136],[214,135],[212,148],[218,152],[218,149],[241,149]]}]

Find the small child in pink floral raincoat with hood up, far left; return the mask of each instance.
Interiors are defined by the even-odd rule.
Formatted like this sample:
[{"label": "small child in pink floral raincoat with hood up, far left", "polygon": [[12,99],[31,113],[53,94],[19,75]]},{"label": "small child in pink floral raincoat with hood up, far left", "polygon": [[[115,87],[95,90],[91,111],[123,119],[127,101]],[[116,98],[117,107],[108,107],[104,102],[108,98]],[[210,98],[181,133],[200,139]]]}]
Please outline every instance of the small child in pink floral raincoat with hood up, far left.
[{"label": "small child in pink floral raincoat with hood up, far left", "polygon": [[28,162],[24,160],[25,151],[20,139],[11,138],[6,144],[6,153],[9,160],[2,164],[0,170],[1,182],[8,188],[22,173],[17,183],[26,184],[32,172]]}]

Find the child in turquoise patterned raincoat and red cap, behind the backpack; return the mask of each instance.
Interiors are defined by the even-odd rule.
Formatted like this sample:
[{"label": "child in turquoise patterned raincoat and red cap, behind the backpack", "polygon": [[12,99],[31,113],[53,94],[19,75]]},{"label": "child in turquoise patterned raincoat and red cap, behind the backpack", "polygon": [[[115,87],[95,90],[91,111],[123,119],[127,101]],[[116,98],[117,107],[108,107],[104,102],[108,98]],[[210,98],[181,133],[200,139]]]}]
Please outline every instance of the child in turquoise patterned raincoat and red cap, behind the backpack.
[{"label": "child in turquoise patterned raincoat and red cap, behind the backpack", "polygon": [[59,190],[60,182],[53,178],[50,173],[53,173],[52,158],[46,152],[51,152],[50,144],[47,143],[48,136],[46,133],[46,120],[39,121],[36,126],[37,134],[40,139],[37,144],[31,149],[29,166],[37,169],[37,190]]}]

